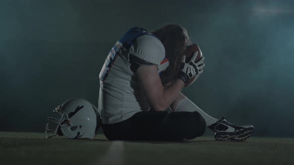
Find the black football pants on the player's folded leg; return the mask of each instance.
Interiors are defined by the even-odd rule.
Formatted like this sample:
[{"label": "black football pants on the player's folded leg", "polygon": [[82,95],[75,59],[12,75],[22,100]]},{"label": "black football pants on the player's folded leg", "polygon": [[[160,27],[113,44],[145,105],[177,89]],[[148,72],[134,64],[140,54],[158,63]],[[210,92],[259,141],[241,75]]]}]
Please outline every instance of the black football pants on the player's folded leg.
[{"label": "black football pants on the player's folded leg", "polygon": [[205,121],[198,112],[142,111],[114,124],[102,124],[109,140],[182,141],[202,136]]}]

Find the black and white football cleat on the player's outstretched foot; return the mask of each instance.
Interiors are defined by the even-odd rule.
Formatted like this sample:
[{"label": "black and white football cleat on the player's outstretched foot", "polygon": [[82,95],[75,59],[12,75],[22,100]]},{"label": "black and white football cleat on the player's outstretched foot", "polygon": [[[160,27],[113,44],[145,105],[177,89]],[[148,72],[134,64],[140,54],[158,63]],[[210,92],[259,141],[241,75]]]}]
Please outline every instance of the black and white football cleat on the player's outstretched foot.
[{"label": "black and white football cleat on the player's outstretched foot", "polygon": [[252,125],[232,124],[227,122],[224,117],[208,128],[213,131],[215,140],[243,141],[254,132]]}]

